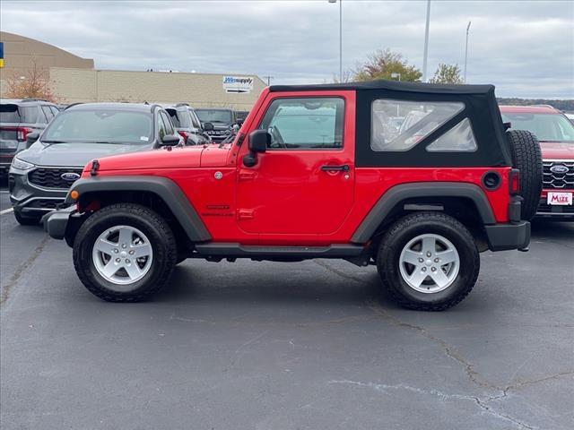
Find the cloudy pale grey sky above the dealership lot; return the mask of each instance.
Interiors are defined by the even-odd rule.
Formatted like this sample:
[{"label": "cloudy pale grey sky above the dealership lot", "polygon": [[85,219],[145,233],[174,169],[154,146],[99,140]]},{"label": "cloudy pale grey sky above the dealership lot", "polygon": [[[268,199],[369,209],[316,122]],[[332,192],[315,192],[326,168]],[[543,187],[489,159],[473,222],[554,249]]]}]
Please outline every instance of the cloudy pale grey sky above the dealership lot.
[{"label": "cloudy pale grey sky above the dealership lot", "polygon": [[[343,0],[343,61],[378,49],[422,69],[425,0]],[[574,99],[574,1],[431,0],[428,74],[465,63],[499,97]],[[339,4],[276,1],[13,1],[0,28],[93,58],[97,68],[253,73],[272,83],[333,82]]]}]

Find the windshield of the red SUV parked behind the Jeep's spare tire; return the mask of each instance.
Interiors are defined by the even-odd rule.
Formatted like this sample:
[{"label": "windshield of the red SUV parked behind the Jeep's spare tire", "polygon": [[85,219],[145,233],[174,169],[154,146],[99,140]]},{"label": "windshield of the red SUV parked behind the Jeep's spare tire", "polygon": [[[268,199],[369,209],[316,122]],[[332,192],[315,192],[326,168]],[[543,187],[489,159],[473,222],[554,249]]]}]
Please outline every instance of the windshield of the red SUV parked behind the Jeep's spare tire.
[{"label": "windshield of the red SUV parked behind the Jeep's spare tire", "polygon": [[560,114],[502,113],[502,120],[515,130],[535,133],[540,142],[574,144],[574,125]]}]

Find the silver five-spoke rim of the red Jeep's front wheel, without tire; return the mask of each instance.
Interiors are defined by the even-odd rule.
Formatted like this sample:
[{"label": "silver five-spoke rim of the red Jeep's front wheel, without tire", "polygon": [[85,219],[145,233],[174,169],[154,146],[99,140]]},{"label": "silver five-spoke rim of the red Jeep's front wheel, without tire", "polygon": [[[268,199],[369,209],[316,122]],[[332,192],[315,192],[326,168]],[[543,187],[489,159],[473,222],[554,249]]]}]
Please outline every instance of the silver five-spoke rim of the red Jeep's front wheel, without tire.
[{"label": "silver five-spoke rim of the red Jeep's front wheel, without tire", "polygon": [[117,291],[126,291],[129,290],[126,286],[141,280],[150,271],[152,244],[137,228],[107,228],[94,242],[91,259],[103,279],[117,285]]}]

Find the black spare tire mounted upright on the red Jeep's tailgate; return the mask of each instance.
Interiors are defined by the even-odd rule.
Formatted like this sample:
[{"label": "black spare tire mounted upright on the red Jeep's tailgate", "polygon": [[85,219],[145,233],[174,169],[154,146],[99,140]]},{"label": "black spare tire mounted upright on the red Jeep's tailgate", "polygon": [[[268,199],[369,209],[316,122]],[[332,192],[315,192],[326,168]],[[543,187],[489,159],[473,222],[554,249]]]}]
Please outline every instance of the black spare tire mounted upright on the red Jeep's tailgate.
[{"label": "black spare tire mounted upright on the red Jeep's tailgate", "polygon": [[520,170],[518,194],[522,202],[521,219],[533,219],[542,193],[542,152],[535,134],[525,130],[506,132],[512,165]]}]

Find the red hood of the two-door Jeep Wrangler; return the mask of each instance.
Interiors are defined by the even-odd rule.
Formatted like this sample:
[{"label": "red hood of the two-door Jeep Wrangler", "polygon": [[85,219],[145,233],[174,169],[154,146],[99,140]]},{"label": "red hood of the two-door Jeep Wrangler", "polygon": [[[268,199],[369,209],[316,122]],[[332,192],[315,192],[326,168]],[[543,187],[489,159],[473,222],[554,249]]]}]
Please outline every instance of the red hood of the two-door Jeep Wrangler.
[{"label": "red hood of the two-door Jeep Wrangler", "polygon": [[[104,159],[98,159],[100,162],[98,171],[157,171],[160,169],[198,168],[200,166],[201,153],[204,148],[204,146],[185,146],[172,148],[171,150],[160,148],[159,150],[147,150],[144,152],[106,157]],[[91,161],[91,159],[87,162],[89,161]],[[91,166],[87,166],[87,168],[91,168]]]}]

